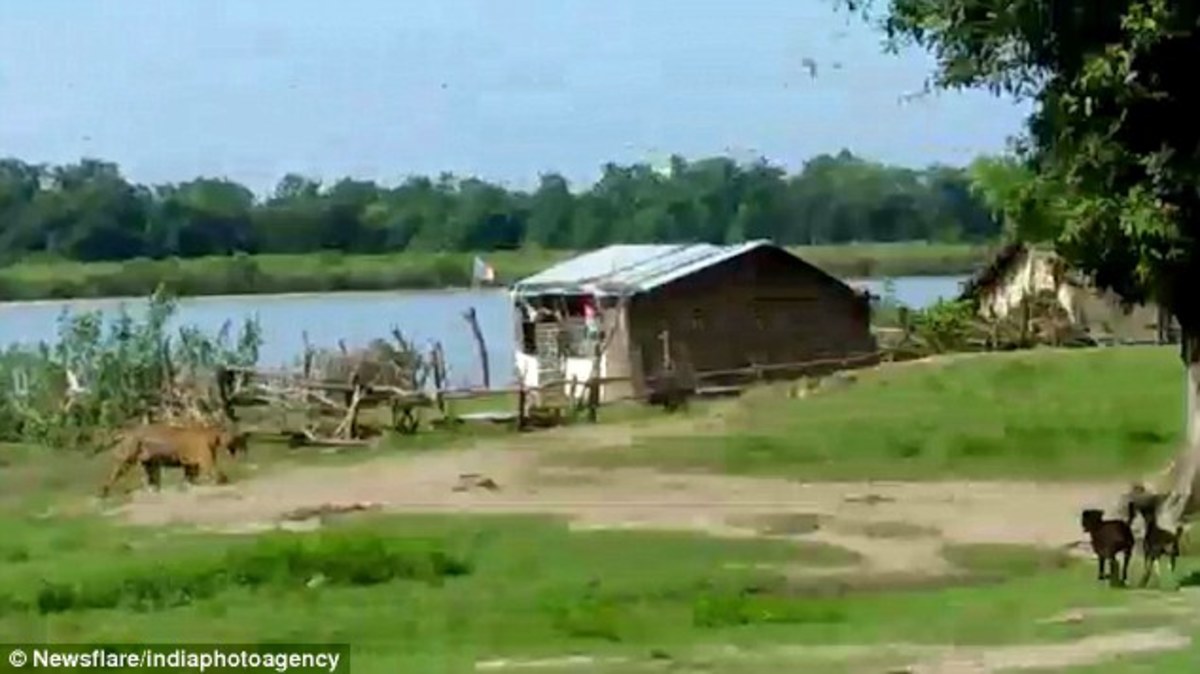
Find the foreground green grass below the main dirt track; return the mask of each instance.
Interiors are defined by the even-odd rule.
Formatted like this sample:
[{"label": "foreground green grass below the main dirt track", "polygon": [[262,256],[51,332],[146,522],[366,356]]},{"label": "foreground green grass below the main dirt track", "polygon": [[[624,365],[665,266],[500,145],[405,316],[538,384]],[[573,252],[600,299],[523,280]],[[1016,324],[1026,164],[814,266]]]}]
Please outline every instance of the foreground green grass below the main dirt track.
[{"label": "foreground green grass below the main dirt track", "polygon": [[86,519],[4,522],[0,632],[41,642],[350,642],[354,672],[466,672],[572,652],[649,661],[704,644],[1052,642],[1072,606],[1120,606],[1055,553],[960,554],[971,578],[788,580],[836,548],[666,532],[570,532],[526,517],[349,518],[217,536]]}]

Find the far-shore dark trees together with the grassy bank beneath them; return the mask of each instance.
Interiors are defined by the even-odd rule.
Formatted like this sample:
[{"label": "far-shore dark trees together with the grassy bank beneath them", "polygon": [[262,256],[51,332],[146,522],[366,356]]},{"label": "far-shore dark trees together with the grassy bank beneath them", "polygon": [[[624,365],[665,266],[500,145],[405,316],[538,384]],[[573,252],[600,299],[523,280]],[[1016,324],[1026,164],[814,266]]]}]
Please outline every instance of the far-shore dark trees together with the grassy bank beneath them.
[{"label": "far-shore dark trees together with the grassy bank beneath them", "polygon": [[[511,282],[613,242],[772,239],[842,277],[966,273],[1000,225],[965,169],[847,152],[796,175],[727,158],[673,173],[607,166],[583,192],[475,179],[396,187],[284,176],[241,185],[126,181],[115,164],[0,160],[0,300],[466,287],[476,254]],[[862,243],[860,243],[862,242]],[[870,243],[880,242],[880,243]]]}]

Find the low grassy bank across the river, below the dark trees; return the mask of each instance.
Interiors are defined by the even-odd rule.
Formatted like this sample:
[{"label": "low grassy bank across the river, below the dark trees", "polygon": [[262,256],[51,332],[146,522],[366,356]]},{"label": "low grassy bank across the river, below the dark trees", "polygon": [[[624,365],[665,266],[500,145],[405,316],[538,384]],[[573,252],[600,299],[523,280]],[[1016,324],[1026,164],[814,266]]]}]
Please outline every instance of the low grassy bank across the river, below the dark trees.
[{"label": "low grassy bank across the river, below the dark trees", "polygon": [[[792,248],[846,278],[970,273],[990,247],[864,243]],[[571,257],[569,251],[480,253],[498,283],[510,283]],[[475,253],[233,255],[121,263],[28,261],[0,267],[0,301],[144,296],[158,283],[181,296],[340,290],[428,290],[470,284]]]}]

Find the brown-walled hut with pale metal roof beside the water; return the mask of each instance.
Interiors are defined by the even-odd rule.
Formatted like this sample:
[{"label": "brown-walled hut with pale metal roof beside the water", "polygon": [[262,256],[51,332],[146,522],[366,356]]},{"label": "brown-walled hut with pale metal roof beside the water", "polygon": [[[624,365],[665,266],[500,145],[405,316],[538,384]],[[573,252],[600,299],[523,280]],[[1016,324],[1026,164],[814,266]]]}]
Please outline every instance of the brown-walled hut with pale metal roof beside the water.
[{"label": "brown-walled hut with pale metal roof beside the water", "polygon": [[[869,299],[769,241],[614,245],[511,288],[516,367],[601,402],[666,371],[707,373],[875,353]],[[619,380],[619,381],[617,381]]]}]

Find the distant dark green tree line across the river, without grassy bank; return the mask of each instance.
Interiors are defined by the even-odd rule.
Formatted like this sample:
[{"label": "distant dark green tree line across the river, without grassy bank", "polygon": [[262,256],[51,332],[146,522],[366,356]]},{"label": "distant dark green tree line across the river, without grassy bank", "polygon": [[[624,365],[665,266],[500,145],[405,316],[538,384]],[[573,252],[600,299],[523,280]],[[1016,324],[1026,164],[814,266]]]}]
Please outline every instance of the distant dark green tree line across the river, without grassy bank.
[{"label": "distant dark green tree line across the river, without grassy bank", "polygon": [[606,164],[587,189],[557,174],[530,191],[444,174],[388,187],[289,174],[263,198],[198,177],[138,185],[114,163],[0,160],[0,258],[73,260],[245,253],[582,249],[610,242],[786,245],[985,241],[1001,227],[961,168],[908,169],[850,152],[794,175],[725,157]]}]

